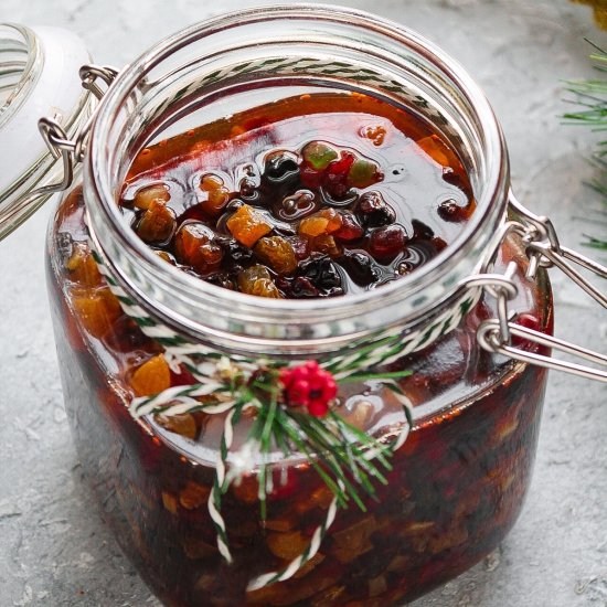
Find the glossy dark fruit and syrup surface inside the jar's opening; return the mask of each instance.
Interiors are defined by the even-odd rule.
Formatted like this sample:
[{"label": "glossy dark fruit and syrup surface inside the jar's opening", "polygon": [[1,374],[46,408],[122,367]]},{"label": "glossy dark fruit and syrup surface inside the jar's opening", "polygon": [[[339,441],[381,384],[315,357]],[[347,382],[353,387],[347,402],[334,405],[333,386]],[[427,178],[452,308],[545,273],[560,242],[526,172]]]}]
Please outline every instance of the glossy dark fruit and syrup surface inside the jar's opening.
[{"label": "glossy dark fruit and syrup surface inside the jar's opening", "polygon": [[121,206],[169,263],[273,298],[333,297],[415,270],[475,209],[455,151],[361,94],[290,97],[142,150]]}]

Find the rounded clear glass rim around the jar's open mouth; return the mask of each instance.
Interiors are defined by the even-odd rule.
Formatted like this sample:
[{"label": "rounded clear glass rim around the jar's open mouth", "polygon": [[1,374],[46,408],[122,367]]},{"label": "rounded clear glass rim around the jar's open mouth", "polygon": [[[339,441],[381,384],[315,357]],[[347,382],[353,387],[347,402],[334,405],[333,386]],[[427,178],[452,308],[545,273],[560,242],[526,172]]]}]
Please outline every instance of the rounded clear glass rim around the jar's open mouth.
[{"label": "rounded clear glass rim around the jar's open mouth", "polygon": [[[135,232],[121,221],[116,203],[117,194],[111,184],[113,171],[107,156],[107,135],[110,132],[113,120],[120,106],[129,99],[132,100],[132,92],[152,67],[161,64],[180,49],[216,32],[237,30],[277,19],[288,19],[289,22],[296,20],[330,21],[344,26],[348,24],[350,28],[364,29],[368,35],[390,39],[402,44],[403,49],[414,50],[457,84],[458,92],[467,99],[469,107],[472,108],[479,120],[483,136],[482,155],[487,162],[487,179],[482,184],[481,195],[477,196],[476,212],[445,252],[411,275],[383,285],[381,289],[312,300],[266,299],[234,292],[173,268],[153,255]],[[209,19],[166,38],[131,63],[113,83],[99,106],[92,127],[89,148],[85,160],[85,200],[94,237],[102,252],[109,257],[113,256],[111,252],[116,251],[131,253],[130,263],[114,268],[125,286],[142,298],[143,302],[156,308],[159,316],[178,323],[198,338],[209,338],[209,336],[220,338],[226,331],[241,331],[244,338],[254,339],[258,343],[265,343],[266,347],[268,341],[275,340],[295,339],[309,342],[310,338],[311,341],[317,338],[323,339],[327,334],[321,334],[315,328],[319,322],[330,321],[332,336],[350,337],[353,333],[360,336],[361,332],[372,331],[386,324],[402,323],[404,320],[411,320],[412,315],[406,315],[406,318],[382,318],[376,321],[377,326],[375,327],[361,319],[364,315],[369,316],[370,309],[376,310],[377,306],[396,310],[405,297],[417,298],[422,302],[414,315],[416,318],[434,310],[440,302],[452,299],[461,276],[459,279],[451,277],[450,290],[443,289],[440,292],[437,288],[433,291],[436,277],[437,275],[446,277],[445,283],[448,285],[449,277],[446,275],[452,267],[465,262],[468,271],[470,271],[472,266],[477,265],[494,227],[503,220],[508,184],[508,153],[500,126],[484,94],[459,63],[434,43],[403,25],[364,11],[327,4],[297,3],[252,8]],[[141,268],[146,268],[142,274],[134,271],[132,263],[136,259],[138,259],[138,264],[141,264]],[[109,263],[111,264],[113,259],[109,259]],[[160,298],[150,297],[153,294],[156,296],[159,294],[158,285],[153,289],[148,289],[151,276],[155,276],[155,279],[162,278],[163,286],[160,288],[162,292],[167,289],[187,292],[190,303],[193,303],[192,311],[201,306],[207,308],[213,302],[217,310],[228,309],[233,316],[232,320],[237,322],[231,324],[226,318],[213,321],[209,315],[204,318],[198,315],[196,318],[194,313],[194,318],[192,318],[190,315],[183,313],[183,309],[181,313],[175,313],[170,305],[166,305],[167,300],[162,298],[162,292]],[[429,294],[426,292],[428,289]],[[152,300],[150,301],[150,299]],[[153,301],[153,299],[162,301]],[[223,315],[220,312],[219,316]],[[252,326],[245,326],[246,322],[243,321],[251,321]],[[285,328],[286,324],[294,321],[297,321],[300,330]],[[231,329],[231,327],[233,328]]]}]

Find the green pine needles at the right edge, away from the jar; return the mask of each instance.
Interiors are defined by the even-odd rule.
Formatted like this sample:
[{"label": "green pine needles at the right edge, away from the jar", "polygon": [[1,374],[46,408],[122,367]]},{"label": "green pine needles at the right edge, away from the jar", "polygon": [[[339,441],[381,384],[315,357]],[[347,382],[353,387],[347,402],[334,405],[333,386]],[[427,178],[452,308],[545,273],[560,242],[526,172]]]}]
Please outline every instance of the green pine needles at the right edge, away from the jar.
[{"label": "green pine needles at the right edge, away from the jar", "polygon": [[[607,72],[607,52],[587,39],[586,42],[595,49],[590,54],[594,68],[601,73]],[[594,131],[607,130],[607,78],[568,81],[566,84],[565,90],[575,96],[574,99],[569,99],[569,103],[576,104],[579,109],[564,114],[565,124],[588,126]],[[607,209],[606,156],[607,140],[603,139],[597,142],[590,159],[600,177],[588,182],[587,185],[603,196]],[[586,236],[586,246],[607,251],[607,239],[596,236]]]}]

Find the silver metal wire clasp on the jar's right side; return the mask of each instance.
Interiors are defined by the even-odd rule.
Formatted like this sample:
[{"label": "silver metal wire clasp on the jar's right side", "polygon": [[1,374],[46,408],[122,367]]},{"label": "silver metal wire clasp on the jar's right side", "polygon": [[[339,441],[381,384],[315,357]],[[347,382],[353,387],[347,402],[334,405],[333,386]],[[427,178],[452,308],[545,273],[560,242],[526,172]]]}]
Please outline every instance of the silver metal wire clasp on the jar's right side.
[{"label": "silver metal wire clasp on the jar's right side", "polygon": [[470,276],[462,281],[462,286],[468,288],[482,287],[497,299],[498,318],[486,320],[480,324],[477,330],[479,344],[489,352],[503,354],[518,361],[566,371],[575,375],[607,383],[607,370],[555,359],[537,352],[530,352],[512,344],[512,337],[514,336],[607,368],[607,355],[546,336],[517,322],[518,313],[509,309],[509,302],[518,294],[518,287],[513,280],[517,271],[515,263],[511,262],[504,274],[491,274],[488,271],[493,265],[499,245],[510,233],[517,233],[525,245],[529,257],[528,278],[534,279],[540,267],[558,267],[604,308],[607,308],[607,294],[595,287],[573,264],[577,264],[604,279],[607,278],[607,268],[575,251],[562,246],[550,219],[534,215],[512,195],[510,196],[510,206],[511,211],[513,211],[514,220],[507,222],[498,234],[494,247],[481,265],[479,274]]}]

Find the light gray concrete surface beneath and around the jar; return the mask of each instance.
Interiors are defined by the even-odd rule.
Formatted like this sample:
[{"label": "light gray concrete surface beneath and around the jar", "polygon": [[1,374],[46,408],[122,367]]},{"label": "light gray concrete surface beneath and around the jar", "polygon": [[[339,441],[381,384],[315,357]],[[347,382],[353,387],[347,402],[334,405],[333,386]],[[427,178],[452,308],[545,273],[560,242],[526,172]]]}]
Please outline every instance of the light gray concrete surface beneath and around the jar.
[{"label": "light gray concrete surface beneath and around the jar", "polygon": [[[443,45],[486,88],[509,141],[513,183],[563,239],[607,233],[582,185],[589,131],[564,127],[562,79],[588,75],[583,36],[607,45],[566,0],[359,0]],[[217,0],[213,11],[248,2]],[[194,0],[0,0],[0,20],[78,32],[124,65],[211,13]],[[0,244],[0,607],[155,606],[99,521],[62,408],[43,276],[50,210]],[[603,221],[603,224],[599,222]],[[607,350],[607,316],[555,278],[557,332]],[[607,390],[553,373],[531,494],[499,552],[415,607],[607,606]]]}]

